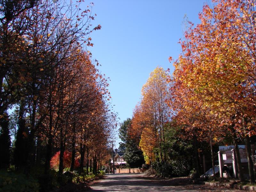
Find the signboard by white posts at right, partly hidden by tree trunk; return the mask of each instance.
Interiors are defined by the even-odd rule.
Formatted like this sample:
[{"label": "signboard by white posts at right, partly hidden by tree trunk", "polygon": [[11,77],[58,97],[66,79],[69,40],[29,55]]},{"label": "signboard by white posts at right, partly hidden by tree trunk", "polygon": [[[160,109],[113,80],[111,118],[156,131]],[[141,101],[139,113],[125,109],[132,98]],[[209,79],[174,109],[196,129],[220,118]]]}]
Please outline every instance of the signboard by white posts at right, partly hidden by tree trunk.
[{"label": "signboard by white posts at right, partly hidden by tree trunk", "polygon": [[[245,145],[238,145],[241,163],[247,163]],[[219,146],[219,150],[222,153],[223,163],[232,163],[232,149],[234,149],[234,145],[228,146]]]}]

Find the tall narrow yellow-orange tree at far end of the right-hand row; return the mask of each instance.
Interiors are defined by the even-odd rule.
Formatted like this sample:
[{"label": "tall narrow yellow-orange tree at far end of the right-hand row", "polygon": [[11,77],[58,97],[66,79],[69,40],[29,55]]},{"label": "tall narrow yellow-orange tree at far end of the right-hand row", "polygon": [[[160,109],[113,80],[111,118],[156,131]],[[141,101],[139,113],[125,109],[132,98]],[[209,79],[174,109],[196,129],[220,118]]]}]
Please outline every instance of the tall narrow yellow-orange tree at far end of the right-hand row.
[{"label": "tall narrow yellow-orange tree at far end of the right-hand row", "polygon": [[159,158],[166,161],[164,132],[171,115],[165,102],[168,96],[167,76],[161,67],[150,74],[142,87],[141,101],[134,109],[130,131],[134,139],[140,140],[140,148],[145,151],[145,157],[153,158],[149,155],[153,153],[157,161]]}]

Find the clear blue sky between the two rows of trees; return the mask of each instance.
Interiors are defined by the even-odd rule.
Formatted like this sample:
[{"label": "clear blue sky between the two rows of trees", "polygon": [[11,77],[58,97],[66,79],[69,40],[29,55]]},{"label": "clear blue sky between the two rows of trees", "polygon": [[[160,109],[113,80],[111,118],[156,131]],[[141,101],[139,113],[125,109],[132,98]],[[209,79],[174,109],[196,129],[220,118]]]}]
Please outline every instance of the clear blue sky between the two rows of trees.
[{"label": "clear blue sky between the two rows of trees", "polygon": [[91,34],[94,46],[89,50],[102,65],[101,73],[110,77],[112,105],[120,122],[132,118],[141,88],[154,68],[173,71],[168,58],[180,54],[177,42],[183,36],[184,15],[197,24],[198,13],[209,1],[92,0],[92,12],[97,14],[92,24],[102,28]]}]

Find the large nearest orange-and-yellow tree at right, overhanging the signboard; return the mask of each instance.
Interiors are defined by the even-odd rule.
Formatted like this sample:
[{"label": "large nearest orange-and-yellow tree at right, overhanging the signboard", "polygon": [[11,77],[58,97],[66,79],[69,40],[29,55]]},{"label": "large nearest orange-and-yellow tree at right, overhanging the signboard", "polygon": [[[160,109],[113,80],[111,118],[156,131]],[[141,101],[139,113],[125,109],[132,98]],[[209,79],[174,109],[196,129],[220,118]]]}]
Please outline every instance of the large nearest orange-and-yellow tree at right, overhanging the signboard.
[{"label": "large nearest orange-and-yellow tree at right, overhanging the signboard", "polygon": [[254,182],[250,136],[255,134],[255,2],[214,3],[213,8],[204,5],[200,24],[193,28],[190,23],[175,67],[182,71],[180,80],[194,90],[196,100],[211,108],[219,122],[231,122],[229,131],[245,140]]}]

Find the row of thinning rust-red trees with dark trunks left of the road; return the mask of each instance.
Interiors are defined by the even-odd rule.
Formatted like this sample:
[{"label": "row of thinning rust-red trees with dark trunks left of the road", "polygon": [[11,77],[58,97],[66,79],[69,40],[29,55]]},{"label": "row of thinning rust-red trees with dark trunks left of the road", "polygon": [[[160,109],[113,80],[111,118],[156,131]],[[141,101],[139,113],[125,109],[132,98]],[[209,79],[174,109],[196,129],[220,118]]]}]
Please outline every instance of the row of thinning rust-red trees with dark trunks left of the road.
[{"label": "row of thinning rust-red trees with dark trunks left of the road", "polygon": [[56,149],[59,175],[65,150],[72,152],[70,170],[79,156],[87,174],[89,159],[95,165],[106,157],[116,114],[108,81],[86,50],[93,46],[90,33],[101,26],[91,27],[93,4],[80,6],[62,0],[0,3],[1,169],[9,167],[11,152],[11,163],[26,175],[42,162],[49,174]]}]

